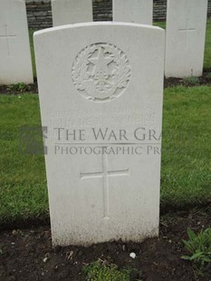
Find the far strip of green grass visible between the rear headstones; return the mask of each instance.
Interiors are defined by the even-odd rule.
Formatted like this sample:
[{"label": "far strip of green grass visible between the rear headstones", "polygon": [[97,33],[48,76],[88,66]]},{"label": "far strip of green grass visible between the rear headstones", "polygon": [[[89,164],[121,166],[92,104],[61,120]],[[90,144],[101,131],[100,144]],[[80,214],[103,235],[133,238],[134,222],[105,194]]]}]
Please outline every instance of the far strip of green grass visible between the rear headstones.
[{"label": "far strip of green grass visible between the rear headstones", "polygon": [[[164,28],[164,29],[166,28],[165,22],[154,23],[154,25],[159,26],[159,27]],[[32,29],[29,30],[31,53],[32,53],[32,60],[33,60],[34,78],[36,78],[33,34],[34,34],[34,30],[32,30]],[[207,20],[207,24],[206,24],[206,50],[205,50],[204,68],[205,69],[211,68],[211,20],[210,19]]]}]

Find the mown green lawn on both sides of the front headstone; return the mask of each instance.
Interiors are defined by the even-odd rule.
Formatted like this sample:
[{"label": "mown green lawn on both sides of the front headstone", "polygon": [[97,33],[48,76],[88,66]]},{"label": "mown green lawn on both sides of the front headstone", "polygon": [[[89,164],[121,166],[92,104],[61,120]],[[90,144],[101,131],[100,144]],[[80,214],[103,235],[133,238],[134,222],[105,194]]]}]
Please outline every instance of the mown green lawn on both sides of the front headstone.
[{"label": "mown green lawn on both sides of the front headstone", "polygon": [[[165,90],[161,208],[211,202],[211,87]],[[40,126],[38,96],[0,96],[0,224],[46,217],[43,156],[20,153],[19,128]]]}]

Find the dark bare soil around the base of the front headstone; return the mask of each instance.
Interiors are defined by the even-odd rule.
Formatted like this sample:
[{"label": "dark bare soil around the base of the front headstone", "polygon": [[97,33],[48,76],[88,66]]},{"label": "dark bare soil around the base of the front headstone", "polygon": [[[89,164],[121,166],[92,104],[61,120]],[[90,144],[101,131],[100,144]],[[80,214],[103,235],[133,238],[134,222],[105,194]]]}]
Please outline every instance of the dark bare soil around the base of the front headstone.
[{"label": "dark bare soil around the base of the front headstone", "polygon": [[[211,226],[211,211],[179,211],[163,215],[159,238],[143,243],[110,242],[92,247],[52,247],[50,227],[2,230],[0,233],[0,281],[84,281],[82,267],[98,260],[111,260],[120,268],[136,268],[141,274],[132,280],[211,280],[199,276],[188,261],[182,239],[187,228],[196,232]],[[129,257],[134,252],[137,257]],[[112,281],[112,280],[110,280]]]}]

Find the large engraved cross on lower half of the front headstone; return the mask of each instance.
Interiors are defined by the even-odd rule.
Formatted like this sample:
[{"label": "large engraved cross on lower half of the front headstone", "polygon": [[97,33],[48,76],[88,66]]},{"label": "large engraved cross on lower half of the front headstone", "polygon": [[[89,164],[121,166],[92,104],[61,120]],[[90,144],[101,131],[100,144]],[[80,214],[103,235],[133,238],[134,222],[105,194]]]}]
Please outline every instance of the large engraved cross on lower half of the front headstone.
[{"label": "large engraved cross on lower half of the front headstone", "polygon": [[109,170],[107,155],[102,154],[102,167],[100,171],[80,173],[81,179],[102,179],[103,189],[103,218],[110,218],[110,177],[129,176],[129,168],[125,170]]}]

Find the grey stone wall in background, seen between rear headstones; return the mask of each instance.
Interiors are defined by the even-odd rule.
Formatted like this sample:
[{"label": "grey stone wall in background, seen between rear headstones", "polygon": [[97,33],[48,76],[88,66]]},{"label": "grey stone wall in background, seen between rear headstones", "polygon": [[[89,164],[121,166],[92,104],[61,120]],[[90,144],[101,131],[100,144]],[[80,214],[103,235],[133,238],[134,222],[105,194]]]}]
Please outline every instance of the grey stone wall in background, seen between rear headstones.
[{"label": "grey stone wall in background, seen between rear headstones", "polygon": [[[77,1],[77,0],[75,0]],[[92,0],[94,21],[112,20],[112,0]],[[51,27],[51,0],[25,0],[29,28],[43,29]],[[154,0],[154,21],[165,21],[167,14],[167,0]],[[211,0],[208,0],[208,16],[211,17]]]}]

